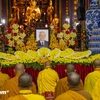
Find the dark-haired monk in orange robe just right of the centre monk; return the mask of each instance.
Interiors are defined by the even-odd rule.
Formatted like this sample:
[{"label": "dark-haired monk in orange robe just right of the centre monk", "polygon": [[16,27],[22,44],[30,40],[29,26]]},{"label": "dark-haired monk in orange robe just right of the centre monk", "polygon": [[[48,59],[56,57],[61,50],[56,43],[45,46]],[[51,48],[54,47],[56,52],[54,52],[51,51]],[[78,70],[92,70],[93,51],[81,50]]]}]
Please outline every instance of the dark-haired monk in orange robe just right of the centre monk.
[{"label": "dark-haired monk in orange robe just right of the centre monk", "polygon": [[[73,64],[68,64],[65,71],[66,71],[67,75],[70,74],[71,72],[74,72],[75,71],[74,65]],[[68,85],[67,77],[60,79],[58,81],[56,89],[55,89],[55,97],[57,97],[58,95],[68,91],[69,88],[70,87]],[[80,90],[83,89],[83,82],[82,82],[82,80],[80,80],[80,85],[79,85],[78,88]]]}]

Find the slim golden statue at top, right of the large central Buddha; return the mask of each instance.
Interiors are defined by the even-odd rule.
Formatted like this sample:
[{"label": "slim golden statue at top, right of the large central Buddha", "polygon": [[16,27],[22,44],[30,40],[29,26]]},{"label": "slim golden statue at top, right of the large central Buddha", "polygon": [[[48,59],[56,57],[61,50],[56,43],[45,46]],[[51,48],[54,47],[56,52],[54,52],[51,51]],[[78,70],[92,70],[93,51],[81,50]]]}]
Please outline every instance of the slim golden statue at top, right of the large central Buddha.
[{"label": "slim golden statue at top, right of the large central Buddha", "polygon": [[53,11],[54,11],[54,7],[52,6],[52,0],[50,0],[50,5],[47,8],[47,20],[48,20],[48,23],[52,22]]}]

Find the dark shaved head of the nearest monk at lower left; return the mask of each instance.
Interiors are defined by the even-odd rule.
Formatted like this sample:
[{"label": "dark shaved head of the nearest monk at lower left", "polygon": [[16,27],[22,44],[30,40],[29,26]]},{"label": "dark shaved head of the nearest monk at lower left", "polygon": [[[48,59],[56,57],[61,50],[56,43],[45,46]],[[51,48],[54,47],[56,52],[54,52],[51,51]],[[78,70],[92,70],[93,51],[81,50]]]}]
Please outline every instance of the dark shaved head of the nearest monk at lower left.
[{"label": "dark shaved head of the nearest monk at lower left", "polygon": [[19,76],[18,79],[19,87],[21,88],[29,88],[32,86],[32,77],[28,73],[24,72]]}]

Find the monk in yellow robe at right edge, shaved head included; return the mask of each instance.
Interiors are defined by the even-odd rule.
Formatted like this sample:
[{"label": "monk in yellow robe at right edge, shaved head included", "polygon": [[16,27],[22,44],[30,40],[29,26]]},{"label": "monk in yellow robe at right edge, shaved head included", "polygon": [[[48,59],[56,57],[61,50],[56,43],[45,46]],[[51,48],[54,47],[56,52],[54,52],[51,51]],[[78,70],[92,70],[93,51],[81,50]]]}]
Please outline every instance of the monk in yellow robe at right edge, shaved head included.
[{"label": "monk in yellow robe at right edge, shaved head included", "polygon": [[94,66],[94,72],[89,73],[84,82],[84,90],[89,92],[90,94],[92,93],[95,83],[98,79],[100,79],[100,60],[96,59],[93,62]]}]

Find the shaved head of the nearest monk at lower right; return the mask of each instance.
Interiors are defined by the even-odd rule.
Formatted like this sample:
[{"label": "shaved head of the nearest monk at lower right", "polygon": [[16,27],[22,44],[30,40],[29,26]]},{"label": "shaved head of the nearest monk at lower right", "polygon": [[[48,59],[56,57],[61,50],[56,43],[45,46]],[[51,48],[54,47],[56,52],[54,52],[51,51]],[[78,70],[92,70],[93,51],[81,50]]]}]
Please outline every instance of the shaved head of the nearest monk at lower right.
[{"label": "shaved head of the nearest monk at lower right", "polygon": [[75,72],[70,73],[68,75],[68,83],[73,87],[78,86],[80,84],[80,75]]}]

